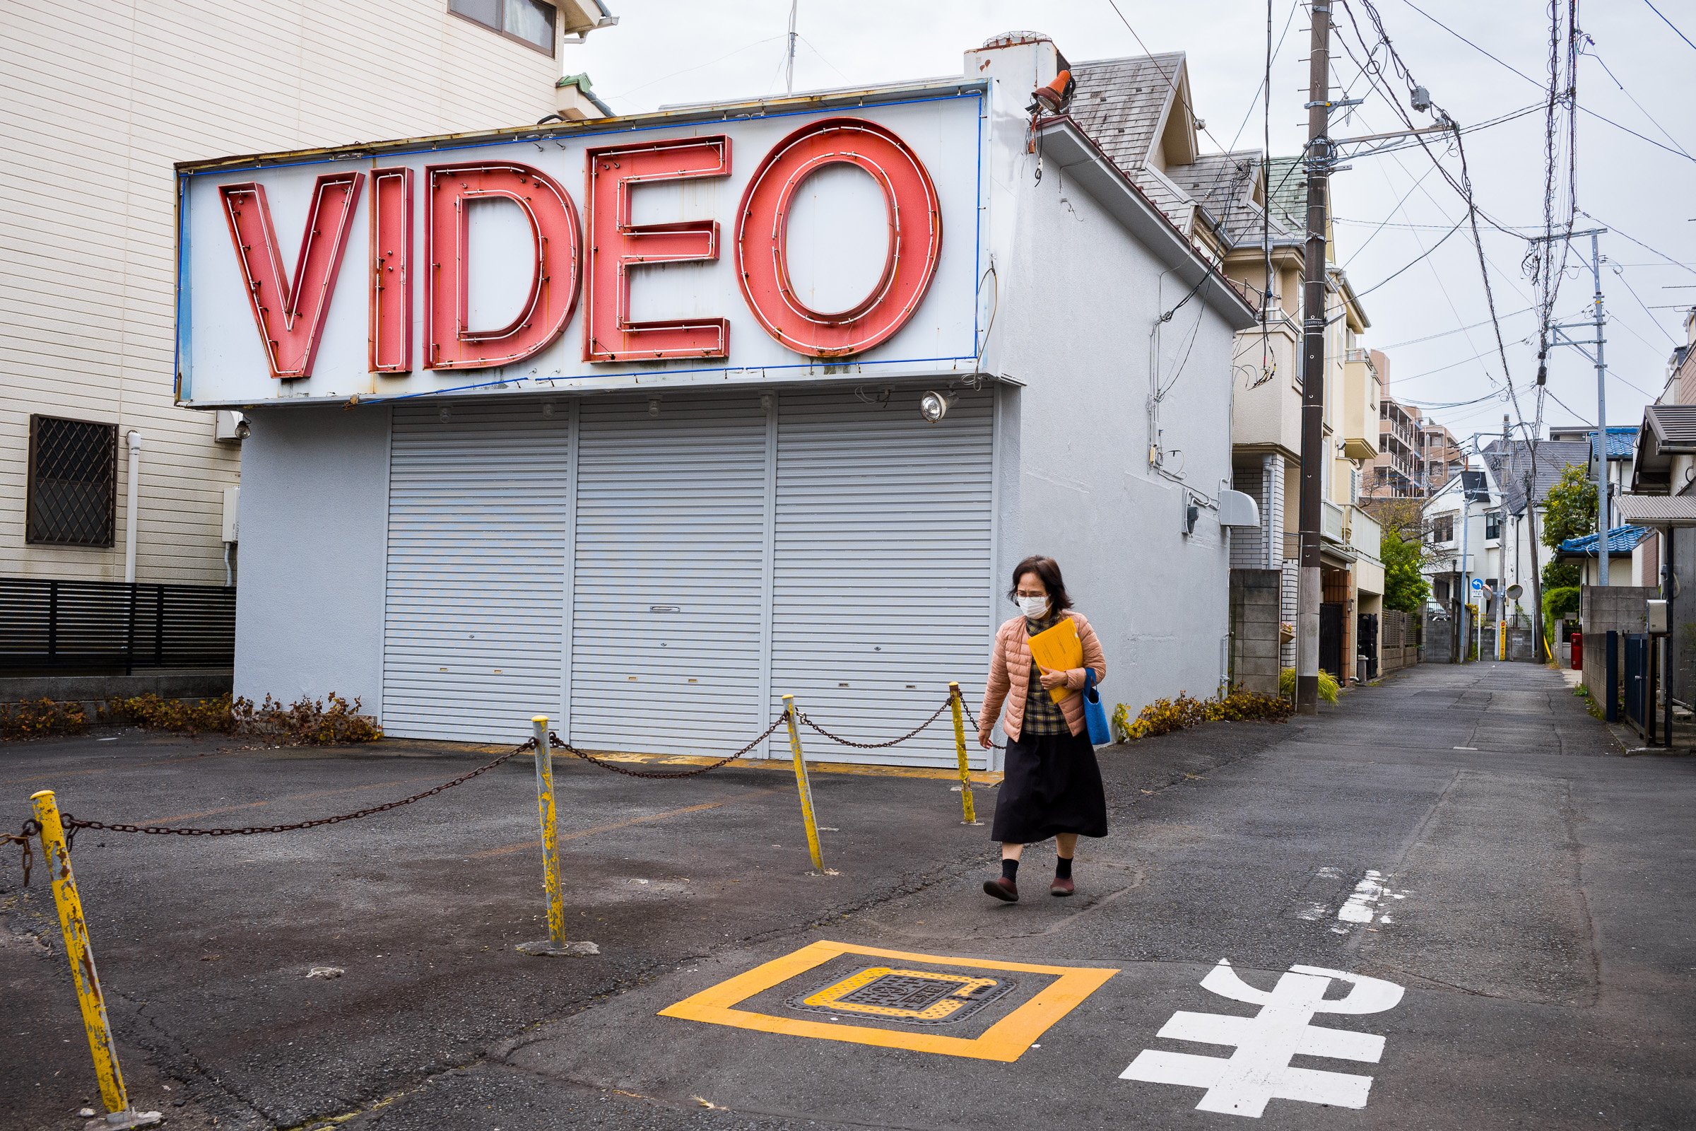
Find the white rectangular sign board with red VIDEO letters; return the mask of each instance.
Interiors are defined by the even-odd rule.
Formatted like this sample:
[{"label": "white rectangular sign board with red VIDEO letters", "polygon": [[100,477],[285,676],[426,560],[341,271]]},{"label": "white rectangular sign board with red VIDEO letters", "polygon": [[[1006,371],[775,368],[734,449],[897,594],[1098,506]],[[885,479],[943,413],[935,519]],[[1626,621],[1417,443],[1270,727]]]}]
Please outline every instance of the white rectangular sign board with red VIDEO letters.
[{"label": "white rectangular sign board with red VIDEO letters", "polygon": [[982,102],[185,168],[178,398],[972,371]]}]

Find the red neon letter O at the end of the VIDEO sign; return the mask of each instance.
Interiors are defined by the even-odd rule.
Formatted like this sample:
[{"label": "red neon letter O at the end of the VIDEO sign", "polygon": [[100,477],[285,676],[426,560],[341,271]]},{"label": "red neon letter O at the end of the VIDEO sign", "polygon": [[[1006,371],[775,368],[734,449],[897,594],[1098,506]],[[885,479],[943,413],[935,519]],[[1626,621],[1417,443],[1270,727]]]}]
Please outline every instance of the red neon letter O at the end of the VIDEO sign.
[{"label": "red neon letter O at the end of the VIDEO sign", "polygon": [[[814,310],[789,278],[789,212],[809,176],[853,164],[872,176],[889,209],[889,251],[870,293],[846,310]],[[767,154],[736,215],[736,278],[748,309],[795,353],[841,358],[885,341],[912,317],[936,275],[943,217],[936,187],[901,137],[860,119],[806,125]]]}]

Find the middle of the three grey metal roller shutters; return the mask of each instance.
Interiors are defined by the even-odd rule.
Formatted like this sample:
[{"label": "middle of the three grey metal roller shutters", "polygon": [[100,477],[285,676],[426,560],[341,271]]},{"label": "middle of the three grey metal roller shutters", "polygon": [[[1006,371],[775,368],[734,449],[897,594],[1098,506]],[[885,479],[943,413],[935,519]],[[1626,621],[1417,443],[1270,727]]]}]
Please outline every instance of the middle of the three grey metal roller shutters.
[{"label": "middle of the three grey metal roller shutters", "polygon": [[768,414],[758,393],[585,398],[572,741],[729,753],[760,733]]}]

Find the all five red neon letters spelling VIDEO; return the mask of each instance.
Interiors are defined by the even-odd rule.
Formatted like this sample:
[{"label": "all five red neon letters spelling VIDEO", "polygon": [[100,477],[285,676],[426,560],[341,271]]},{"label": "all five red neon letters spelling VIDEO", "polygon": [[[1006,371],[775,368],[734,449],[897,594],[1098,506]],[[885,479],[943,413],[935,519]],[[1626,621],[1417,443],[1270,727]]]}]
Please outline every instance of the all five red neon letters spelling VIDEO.
[{"label": "all five red neon letters spelling VIDEO", "polygon": [[[424,368],[482,370],[546,349],[572,320],[580,287],[585,361],[729,356],[724,317],[631,319],[631,278],[641,268],[719,258],[717,220],[636,224],[633,188],[729,176],[729,137],[605,146],[587,151],[585,164],[587,232],[565,188],[529,164],[424,168]],[[860,168],[877,183],[889,242],[882,273],[860,302],[846,310],[814,310],[789,276],[789,219],[801,187],[833,164]],[[312,375],[365,180],[360,171],[317,178],[293,275],[283,270],[265,187],[243,181],[219,188],[275,378]],[[368,368],[410,373],[412,292],[419,285],[412,271],[414,171],[378,168],[370,180]],[[468,207],[480,200],[516,203],[529,229],[527,254],[516,268],[529,273],[527,293],[500,327],[470,326],[470,263],[487,253],[471,248]],[[817,120],[778,142],[743,192],[734,229],[736,281],[748,309],[773,339],[809,358],[843,358],[887,341],[924,300],[941,258],[941,205],[924,163],[894,132],[860,119]]]}]

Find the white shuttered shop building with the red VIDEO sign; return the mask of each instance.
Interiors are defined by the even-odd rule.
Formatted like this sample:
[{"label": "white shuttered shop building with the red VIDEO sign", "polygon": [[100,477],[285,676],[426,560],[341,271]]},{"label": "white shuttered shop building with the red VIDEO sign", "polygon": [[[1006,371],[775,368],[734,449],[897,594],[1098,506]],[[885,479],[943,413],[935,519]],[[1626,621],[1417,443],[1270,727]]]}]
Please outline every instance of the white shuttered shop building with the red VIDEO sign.
[{"label": "white shuttered shop building with the red VIDEO sign", "polygon": [[180,398],[253,427],[236,690],[677,753],[792,692],[877,739],[982,688],[1029,553],[1109,700],[1214,690],[1257,300],[1065,71],[1021,34],[955,80],[180,166]]}]

